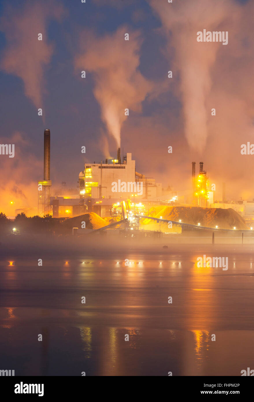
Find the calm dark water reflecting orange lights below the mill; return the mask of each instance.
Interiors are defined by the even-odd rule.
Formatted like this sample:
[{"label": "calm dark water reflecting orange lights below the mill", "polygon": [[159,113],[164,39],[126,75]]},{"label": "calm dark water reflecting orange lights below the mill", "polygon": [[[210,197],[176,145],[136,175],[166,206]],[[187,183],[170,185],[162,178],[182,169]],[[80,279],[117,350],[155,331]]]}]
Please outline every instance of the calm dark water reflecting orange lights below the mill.
[{"label": "calm dark water reflecting orange lights below the mill", "polygon": [[[58,256],[43,259],[42,267],[36,259],[2,258],[0,369],[15,375],[240,375],[254,369],[252,251],[188,247],[107,259]],[[203,253],[229,256],[228,270],[197,268]]]}]

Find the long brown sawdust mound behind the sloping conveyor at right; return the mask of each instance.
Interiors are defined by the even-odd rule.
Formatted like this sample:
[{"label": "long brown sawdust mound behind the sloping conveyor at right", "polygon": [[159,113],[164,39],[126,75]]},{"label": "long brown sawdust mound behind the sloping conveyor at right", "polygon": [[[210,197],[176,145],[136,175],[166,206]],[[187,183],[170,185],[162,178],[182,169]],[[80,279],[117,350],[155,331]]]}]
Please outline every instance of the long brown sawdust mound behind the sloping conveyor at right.
[{"label": "long brown sawdust mound behind the sloping conveyor at right", "polygon": [[188,224],[207,226],[221,229],[248,229],[244,219],[232,208],[201,208],[201,207],[153,207],[150,216],[162,217],[169,221],[179,221]]}]

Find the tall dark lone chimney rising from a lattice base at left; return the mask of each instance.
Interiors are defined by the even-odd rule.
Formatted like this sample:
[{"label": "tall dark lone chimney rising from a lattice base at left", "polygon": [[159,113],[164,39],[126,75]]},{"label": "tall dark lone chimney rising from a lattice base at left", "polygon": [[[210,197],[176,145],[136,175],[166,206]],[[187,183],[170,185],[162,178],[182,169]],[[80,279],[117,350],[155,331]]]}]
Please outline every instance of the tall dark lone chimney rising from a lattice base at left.
[{"label": "tall dark lone chimney rising from a lattice base at left", "polygon": [[44,130],[44,179],[38,181],[38,214],[51,214],[50,208],[50,130]]}]

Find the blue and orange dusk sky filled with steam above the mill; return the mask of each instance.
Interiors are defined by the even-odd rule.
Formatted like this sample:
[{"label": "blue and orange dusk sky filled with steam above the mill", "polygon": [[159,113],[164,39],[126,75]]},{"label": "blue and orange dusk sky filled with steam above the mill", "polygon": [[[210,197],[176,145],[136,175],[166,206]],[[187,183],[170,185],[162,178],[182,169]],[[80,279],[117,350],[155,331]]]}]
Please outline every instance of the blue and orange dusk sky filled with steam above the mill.
[{"label": "blue and orange dusk sky filled with steam above the mill", "polygon": [[[0,156],[3,212],[37,205],[45,128],[53,189],[121,144],[164,187],[190,188],[202,161],[218,198],[225,181],[229,199],[252,200],[254,155],[240,147],[254,143],[253,15],[240,0],[2,1],[0,143],[15,144]],[[203,29],[228,44],[198,43]]]}]

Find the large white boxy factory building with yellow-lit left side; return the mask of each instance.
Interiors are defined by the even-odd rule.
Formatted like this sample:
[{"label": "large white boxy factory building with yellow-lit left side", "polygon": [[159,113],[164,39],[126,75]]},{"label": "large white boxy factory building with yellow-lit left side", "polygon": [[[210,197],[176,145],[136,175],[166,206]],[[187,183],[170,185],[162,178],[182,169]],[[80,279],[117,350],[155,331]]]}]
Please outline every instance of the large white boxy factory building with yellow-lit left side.
[{"label": "large white boxy factory building with yellow-lit left side", "polygon": [[[103,163],[102,163],[103,162]],[[155,199],[162,196],[162,183],[136,172],[131,153],[100,163],[85,163],[79,174],[80,198],[86,199]]]}]

